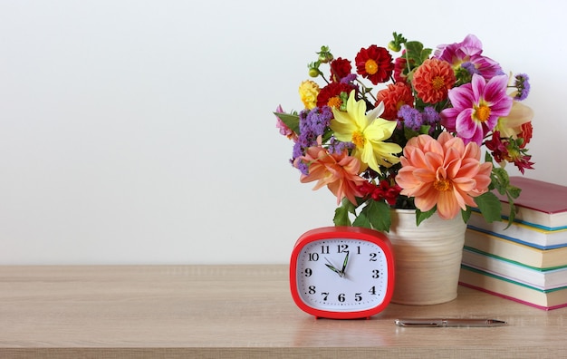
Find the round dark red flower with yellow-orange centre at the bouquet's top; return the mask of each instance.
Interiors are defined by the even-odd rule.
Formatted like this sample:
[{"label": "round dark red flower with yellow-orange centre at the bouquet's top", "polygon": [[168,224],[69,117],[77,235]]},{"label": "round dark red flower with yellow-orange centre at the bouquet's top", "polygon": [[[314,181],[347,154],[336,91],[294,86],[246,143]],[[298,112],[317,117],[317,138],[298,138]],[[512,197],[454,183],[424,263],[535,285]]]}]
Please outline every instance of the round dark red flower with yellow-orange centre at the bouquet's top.
[{"label": "round dark red flower with yellow-orange centre at the bouquet's top", "polygon": [[368,49],[360,49],[354,59],[356,71],[373,84],[387,82],[394,71],[392,56],[384,47],[370,45]]}]

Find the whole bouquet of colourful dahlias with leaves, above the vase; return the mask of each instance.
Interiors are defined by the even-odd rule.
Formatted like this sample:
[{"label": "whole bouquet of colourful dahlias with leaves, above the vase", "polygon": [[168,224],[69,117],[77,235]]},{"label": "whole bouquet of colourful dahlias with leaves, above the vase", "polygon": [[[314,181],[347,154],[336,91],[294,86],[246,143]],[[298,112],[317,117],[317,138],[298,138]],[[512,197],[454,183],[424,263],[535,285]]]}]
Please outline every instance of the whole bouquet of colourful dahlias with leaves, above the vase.
[{"label": "whole bouquet of colourful dahlias with leaves, above the vase", "polygon": [[337,197],[337,226],[389,231],[392,208],[416,209],[417,224],[436,212],[467,221],[472,209],[491,222],[502,214],[494,191],[514,219],[521,189],[505,165],[533,169],[528,76],[505,73],[472,34],[435,50],[393,35],[354,62],[322,46],[308,65],[322,82],[299,87],[303,110],[274,112],[300,180]]}]

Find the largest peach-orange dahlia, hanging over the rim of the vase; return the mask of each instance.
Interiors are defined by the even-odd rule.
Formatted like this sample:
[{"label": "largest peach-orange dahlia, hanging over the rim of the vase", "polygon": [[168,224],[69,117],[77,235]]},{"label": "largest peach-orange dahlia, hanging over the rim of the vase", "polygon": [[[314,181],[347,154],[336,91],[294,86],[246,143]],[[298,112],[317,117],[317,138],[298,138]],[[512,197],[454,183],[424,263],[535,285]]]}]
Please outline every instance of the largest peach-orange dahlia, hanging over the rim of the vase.
[{"label": "largest peach-orange dahlia, hanging over the rim of the vase", "polygon": [[488,190],[492,163],[480,162],[476,142],[466,144],[449,132],[437,140],[420,135],[408,141],[400,158],[396,183],[400,194],[414,197],[422,211],[437,205],[440,218],[455,218],[459,209],[476,207],[474,197]]}]

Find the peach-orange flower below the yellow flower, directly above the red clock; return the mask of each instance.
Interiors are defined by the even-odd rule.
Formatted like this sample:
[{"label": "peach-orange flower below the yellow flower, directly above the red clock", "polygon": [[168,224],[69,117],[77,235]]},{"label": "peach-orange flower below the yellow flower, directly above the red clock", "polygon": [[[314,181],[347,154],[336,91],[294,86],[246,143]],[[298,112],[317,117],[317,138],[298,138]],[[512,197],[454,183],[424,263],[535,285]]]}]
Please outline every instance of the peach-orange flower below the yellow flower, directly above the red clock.
[{"label": "peach-orange flower below the yellow flower, directly above the red clock", "polygon": [[313,189],[327,186],[337,196],[337,205],[345,197],[356,205],[355,197],[362,196],[359,188],[366,182],[359,176],[360,160],[349,156],[346,150],[341,154],[329,153],[322,146],[308,148],[301,160],[309,164],[309,174],[302,175],[302,183],[319,180]]}]

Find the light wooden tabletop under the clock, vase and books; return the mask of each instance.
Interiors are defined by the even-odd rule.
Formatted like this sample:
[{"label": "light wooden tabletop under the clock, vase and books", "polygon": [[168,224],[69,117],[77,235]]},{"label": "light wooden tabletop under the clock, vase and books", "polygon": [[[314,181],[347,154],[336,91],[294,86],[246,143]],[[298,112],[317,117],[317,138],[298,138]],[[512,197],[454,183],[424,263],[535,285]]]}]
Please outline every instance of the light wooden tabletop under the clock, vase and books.
[{"label": "light wooden tabletop under the clock, vase and books", "polygon": [[[0,267],[0,357],[567,356],[567,309],[459,287],[446,304],[338,321],[304,314],[288,286],[287,266]],[[509,325],[394,325],[403,316]]]}]

